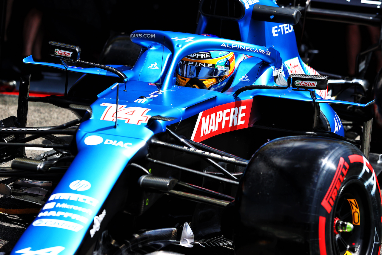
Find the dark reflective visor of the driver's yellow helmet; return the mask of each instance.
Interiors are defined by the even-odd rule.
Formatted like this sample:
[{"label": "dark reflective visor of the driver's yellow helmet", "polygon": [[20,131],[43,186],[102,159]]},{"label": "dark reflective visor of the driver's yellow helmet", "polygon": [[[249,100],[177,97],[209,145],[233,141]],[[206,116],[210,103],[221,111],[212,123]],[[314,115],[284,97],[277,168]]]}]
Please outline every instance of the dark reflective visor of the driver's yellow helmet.
[{"label": "dark reflective visor of the driver's yellow helmet", "polygon": [[176,72],[186,78],[211,78],[228,75],[230,68],[224,65],[204,64],[198,62],[181,61]]}]

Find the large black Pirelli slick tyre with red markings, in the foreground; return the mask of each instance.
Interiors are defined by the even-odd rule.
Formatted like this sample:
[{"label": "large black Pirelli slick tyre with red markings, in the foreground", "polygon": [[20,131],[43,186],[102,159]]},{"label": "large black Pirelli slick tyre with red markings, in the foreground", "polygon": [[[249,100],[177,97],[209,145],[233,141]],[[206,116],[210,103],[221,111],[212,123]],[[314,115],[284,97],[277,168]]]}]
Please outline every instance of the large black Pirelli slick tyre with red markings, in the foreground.
[{"label": "large black Pirelli slick tyre with red markings, in the foreground", "polygon": [[235,254],[379,255],[381,195],[355,146],[284,137],[252,157],[230,208]]}]

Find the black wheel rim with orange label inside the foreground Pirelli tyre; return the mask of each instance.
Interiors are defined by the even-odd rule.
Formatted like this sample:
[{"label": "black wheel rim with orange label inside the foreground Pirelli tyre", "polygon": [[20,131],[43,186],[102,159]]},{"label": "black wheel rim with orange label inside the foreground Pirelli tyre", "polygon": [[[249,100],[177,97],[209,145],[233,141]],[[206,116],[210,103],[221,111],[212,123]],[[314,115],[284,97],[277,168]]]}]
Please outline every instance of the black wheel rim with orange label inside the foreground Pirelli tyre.
[{"label": "black wheel rim with orange label inside the foreground Pirelli tyre", "polygon": [[[336,200],[330,232],[333,254],[369,254],[374,242],[371,235],[375,224],[371,199],[364,184],[359,180],[348,181]],[[338,231],[337,220],[350,222],[353,229],[349,232]]]}]

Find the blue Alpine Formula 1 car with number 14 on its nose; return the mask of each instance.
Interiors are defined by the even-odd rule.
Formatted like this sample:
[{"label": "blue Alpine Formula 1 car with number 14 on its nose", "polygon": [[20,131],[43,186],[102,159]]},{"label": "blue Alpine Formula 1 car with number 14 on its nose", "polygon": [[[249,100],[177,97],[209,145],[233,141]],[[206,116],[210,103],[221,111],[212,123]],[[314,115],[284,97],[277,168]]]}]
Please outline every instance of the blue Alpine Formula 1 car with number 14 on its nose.
[{"label": "blue Alpine Formula 1 car with number 14 on its nose", "polygon": [[[299,57],[298,10],[215,3],[200,2],[196,34],[131,33],[133,66],[56,42],[61,64],[24,59],[84,75],[65,96],[31,98],[21,82],[17,116],[1,121],[13,162],[0,193],[41,208],[10,254],[379,254],[372,121],[352,139],[332,108],[373,101],[330,97]],[[236,24],[237,39],[217,37],[217,23]],[[29,101],[79,119],[28,128]],[[37,137],[53,150],[28,159]]]}]

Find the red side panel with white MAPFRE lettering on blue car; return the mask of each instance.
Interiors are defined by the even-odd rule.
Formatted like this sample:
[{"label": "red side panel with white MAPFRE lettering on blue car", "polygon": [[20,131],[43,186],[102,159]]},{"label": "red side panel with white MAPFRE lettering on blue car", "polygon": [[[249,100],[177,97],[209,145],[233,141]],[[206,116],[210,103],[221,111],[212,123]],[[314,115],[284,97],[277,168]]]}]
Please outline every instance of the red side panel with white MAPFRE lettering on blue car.
[{"label": "red side panel with white MAPFRE lettering on blue car", "polygon": [[252,101],[236,101],[202,111],[197,118],[191,139],[201,142],[218,134],[251,126],[254,123],[251,116]]}]

